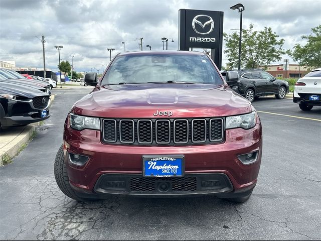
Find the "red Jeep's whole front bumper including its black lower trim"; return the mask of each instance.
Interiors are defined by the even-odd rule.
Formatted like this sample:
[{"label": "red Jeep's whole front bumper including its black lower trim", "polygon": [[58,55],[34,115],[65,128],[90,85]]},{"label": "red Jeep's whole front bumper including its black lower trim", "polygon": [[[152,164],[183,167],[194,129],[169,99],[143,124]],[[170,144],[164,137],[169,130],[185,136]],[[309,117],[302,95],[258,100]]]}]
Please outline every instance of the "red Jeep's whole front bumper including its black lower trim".
[{"label": "red Jeep's whole front bumper including its black lower trim", "polygon": [[[106,145],[100,141],[100,131],[83,130],[79,132],[65,126],[64,154],[69,182],[81,196],[95,195],[101,197],[106,194],[176,196],[183,194],[244,193],[254,188],[257,181],[262,155],[261,123],[250,130],[241,128],[226,130],[225,137],[224,143],[199,146]],[[254,151],[258,151],[258,158],[255,163],[244,165],[238,159],[239,155]],[[82,167],[75,166],[69,162],[68,152],[87,156],[89,160]],[[179,154],[185,156],[185,177],[196,177],[198,180],[196,190],[188,190],[182,193],[172,191],[168,193],[158,193],[157,191],[132,192],[130,178],[133,175],[142,178],[143,155]],[[115,175],[118,175],[118,177],[106,179],[106,177],[115,177]],[[203,180],[200,176],[209,177],[210,180]],[[218,181],[216,177],[222,176],[226,177],[226,179],[223,178],[226,185],[220,186],[220,188],[202,189],[202,181]],[[154,179],[157,182],[159,180]],[[173,180],[174,177],[168,180],[171,188],[175,181]],[[144,180],[141,181],[144,182]],[[182,182],[183,178],[180,181]],[[107,182],[109,184],[101,184]],[[118,190],[115,189],[116,182],[120,182],[118,184],[121,188]]]}]

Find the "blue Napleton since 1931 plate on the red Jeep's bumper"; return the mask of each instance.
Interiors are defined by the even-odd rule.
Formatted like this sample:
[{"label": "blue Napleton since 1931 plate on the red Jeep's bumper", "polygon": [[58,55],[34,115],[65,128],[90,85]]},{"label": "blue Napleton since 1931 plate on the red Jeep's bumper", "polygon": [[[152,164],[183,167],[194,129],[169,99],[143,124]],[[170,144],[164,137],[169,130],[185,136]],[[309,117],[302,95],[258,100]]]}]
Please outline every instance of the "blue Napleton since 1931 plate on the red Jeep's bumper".
[{"label": "blue Napleton since 1931 plate on the red Jeep's bumper", "polygon": [[143,156],[143,177],[183,177],[184,156]]}]

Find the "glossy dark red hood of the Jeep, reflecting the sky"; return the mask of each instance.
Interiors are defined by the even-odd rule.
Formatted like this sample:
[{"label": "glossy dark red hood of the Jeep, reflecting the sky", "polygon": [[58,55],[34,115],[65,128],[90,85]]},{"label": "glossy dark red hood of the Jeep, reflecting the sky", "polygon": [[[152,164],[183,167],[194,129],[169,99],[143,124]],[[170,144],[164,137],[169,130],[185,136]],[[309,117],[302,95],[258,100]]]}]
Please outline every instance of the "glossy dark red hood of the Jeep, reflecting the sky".
[{"label": "glossy dark red hood of the Jeep, reflecting the sky", "polygon": [[228,86],[198,84],[109,85],[96,87],[72,111],[98,117],[212,117],[249,113],[252,105]]}]

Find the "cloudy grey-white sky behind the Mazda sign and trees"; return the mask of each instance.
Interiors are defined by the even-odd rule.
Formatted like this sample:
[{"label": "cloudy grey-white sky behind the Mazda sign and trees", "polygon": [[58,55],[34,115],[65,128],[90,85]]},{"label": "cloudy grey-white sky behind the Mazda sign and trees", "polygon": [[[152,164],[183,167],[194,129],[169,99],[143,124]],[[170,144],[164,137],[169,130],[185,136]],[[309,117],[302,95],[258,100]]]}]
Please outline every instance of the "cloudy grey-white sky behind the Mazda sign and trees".
[{"label": "cloudy grey-white sky behind the Mazda sign and trees", "polygon": [[301,36],[321,24],[321,0],[0,0],[0,60],[42,68],[44,35],[47,68],[57,70],[54,46],[61,45],[60,58],[71,62],[74,55],[76,71],[101,72],[109,63],[106,49],[115,48],[114,56],[124,51],[122,42],[126,51],[138,51],[139,38],[143,50],[163,50],[161,38],[173,38],[168,47],[177,50],[179,9],[223,11],[224,32],[232,33],[240,14],[229,8],[237,3],[245,6],[243,28],[271,27],[285,39],[285,49],[304,44]]}]

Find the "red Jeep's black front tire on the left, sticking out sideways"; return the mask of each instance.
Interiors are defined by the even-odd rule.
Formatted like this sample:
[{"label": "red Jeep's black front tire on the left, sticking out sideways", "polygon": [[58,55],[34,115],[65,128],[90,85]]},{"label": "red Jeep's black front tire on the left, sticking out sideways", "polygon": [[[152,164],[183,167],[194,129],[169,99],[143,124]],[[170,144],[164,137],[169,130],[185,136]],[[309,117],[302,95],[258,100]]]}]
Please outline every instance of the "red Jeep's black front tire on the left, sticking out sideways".
[{"label": "red Jeep's black front tire on the left, sticking out sideways", "polygon": [[62,145],[56,155],[54,173],[58,187],[66,196],[81,202],[91,201],[91,199],[78,197],[74,190],[71,188]]}]

